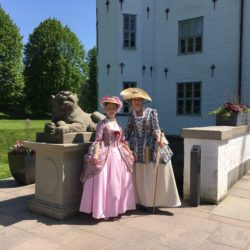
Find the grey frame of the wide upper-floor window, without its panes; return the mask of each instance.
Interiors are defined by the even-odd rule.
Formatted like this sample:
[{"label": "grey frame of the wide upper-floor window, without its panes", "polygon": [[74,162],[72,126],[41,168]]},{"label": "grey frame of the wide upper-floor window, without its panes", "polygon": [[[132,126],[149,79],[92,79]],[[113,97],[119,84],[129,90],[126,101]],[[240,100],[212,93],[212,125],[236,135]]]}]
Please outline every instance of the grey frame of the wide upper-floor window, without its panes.
[{"label": "grey frame of the wide upper-floor window, without its panes", "polygon": [[[182,36],[181,35],[181,25],[183,23],[191,23],[192,27],[194,26],[195,21],[201,20],[202,22],[202,32],[201,35],[195,35],[192,34],[190,36]],[[203,48],[204,48],[204,40],[203,40],[203,34],[204,34],[204,17],[200,16],[200,17],[195,17],[195,18],[190,18],[190,19],[185,19],[185,20],[180,20],[178,21],[178,55],[192,55],[192,54],[200,54],[203,53]],[[201,38],[201,43],[200,43],[200,47],[201,50],[196,51],[196,47],[197,47],[197,39]],[[189,40],[192,39],[193,40],[193,50],[192,51],[188,51],[189,50]],[[182,51],[182,41],[185,41],[185,52],[181,52]]]}]

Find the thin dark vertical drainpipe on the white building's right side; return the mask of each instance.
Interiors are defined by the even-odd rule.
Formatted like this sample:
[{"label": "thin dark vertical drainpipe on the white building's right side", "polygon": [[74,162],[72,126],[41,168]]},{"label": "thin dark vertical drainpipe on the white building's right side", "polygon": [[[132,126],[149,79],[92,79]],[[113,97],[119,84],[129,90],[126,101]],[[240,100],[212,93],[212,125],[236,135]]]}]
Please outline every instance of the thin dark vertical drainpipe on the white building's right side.
[{"label": "thin dark vertical drainpipe on the white building's right side", "polygon": [[244,28],[244,0],[240,1],[240,47],[239,47],[239,76],[238,76],[238,96],[241,103],[242,92],[242,54],[243,54],[243,28]]}]

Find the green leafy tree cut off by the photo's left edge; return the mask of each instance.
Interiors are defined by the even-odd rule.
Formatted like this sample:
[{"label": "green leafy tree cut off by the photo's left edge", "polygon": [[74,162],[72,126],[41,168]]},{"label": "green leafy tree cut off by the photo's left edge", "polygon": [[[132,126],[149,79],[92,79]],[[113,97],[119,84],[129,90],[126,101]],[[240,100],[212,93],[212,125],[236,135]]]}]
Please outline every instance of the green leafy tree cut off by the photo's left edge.
[{"label": "green leafy tree cut off by the photo's left edge", "polygon": [[0,6],[0,106],[16,106],[22,97],[22,37]]}]

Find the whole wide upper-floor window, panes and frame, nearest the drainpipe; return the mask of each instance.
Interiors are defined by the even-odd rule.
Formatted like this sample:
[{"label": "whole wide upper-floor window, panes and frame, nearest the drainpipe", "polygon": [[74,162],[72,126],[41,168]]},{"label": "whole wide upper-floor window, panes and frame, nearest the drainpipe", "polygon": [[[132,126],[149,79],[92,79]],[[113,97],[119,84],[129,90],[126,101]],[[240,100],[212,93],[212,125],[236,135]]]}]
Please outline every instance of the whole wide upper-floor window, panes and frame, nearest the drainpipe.
[{"label": "whole wide upper-floor window, panes and frame, nearest the drainpipe", "polygon": [[203,17],[179,21],[179,54],[202,51]]}]

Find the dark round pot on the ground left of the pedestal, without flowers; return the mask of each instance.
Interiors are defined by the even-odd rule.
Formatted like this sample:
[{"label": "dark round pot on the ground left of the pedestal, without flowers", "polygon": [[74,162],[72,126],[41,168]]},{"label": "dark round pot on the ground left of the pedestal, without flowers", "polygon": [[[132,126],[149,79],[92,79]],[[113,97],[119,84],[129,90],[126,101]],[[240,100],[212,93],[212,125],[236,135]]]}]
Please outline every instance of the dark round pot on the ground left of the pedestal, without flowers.
[{"label": "dark round pot on the ground left of the pedestal, without flowers", "polygon": [[20,185],[35,182],[36,154],[8,153],[9,168],[12,176]]}]

